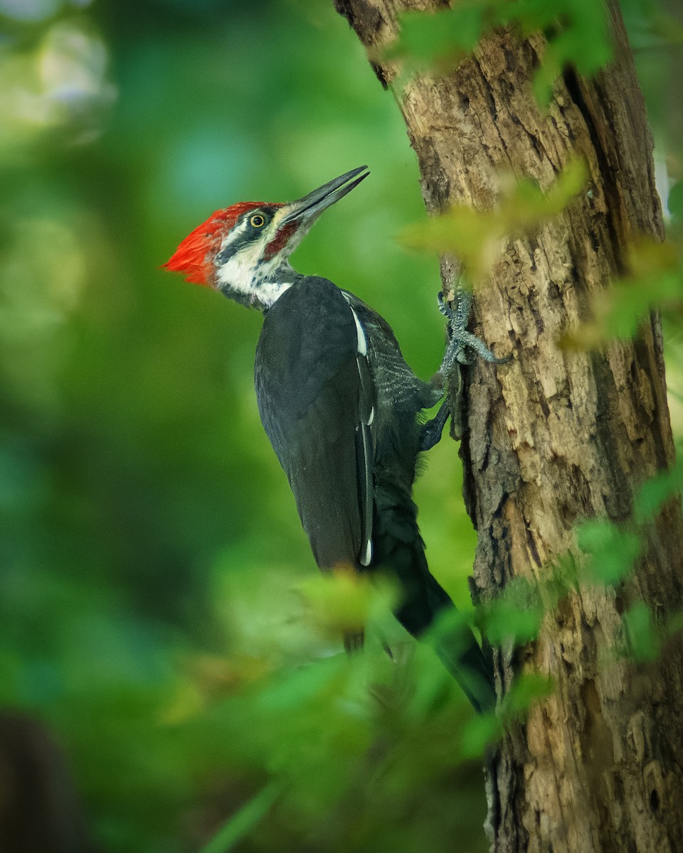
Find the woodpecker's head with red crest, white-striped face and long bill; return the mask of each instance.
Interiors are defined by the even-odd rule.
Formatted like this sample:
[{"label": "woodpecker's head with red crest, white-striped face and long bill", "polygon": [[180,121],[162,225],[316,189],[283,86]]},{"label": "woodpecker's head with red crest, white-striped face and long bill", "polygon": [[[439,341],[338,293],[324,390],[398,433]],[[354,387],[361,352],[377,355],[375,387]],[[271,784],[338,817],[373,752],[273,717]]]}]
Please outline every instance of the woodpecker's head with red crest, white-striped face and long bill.
[{"label": "woodpecker's head with red crest, white-striped face and long bill", "polygon": [[288,258],[312,223],[368,174],[365,165],[352,169],[289,204],[242,201],[216,211],[164,267],[245,305],[267,308],[295,282]]}]

